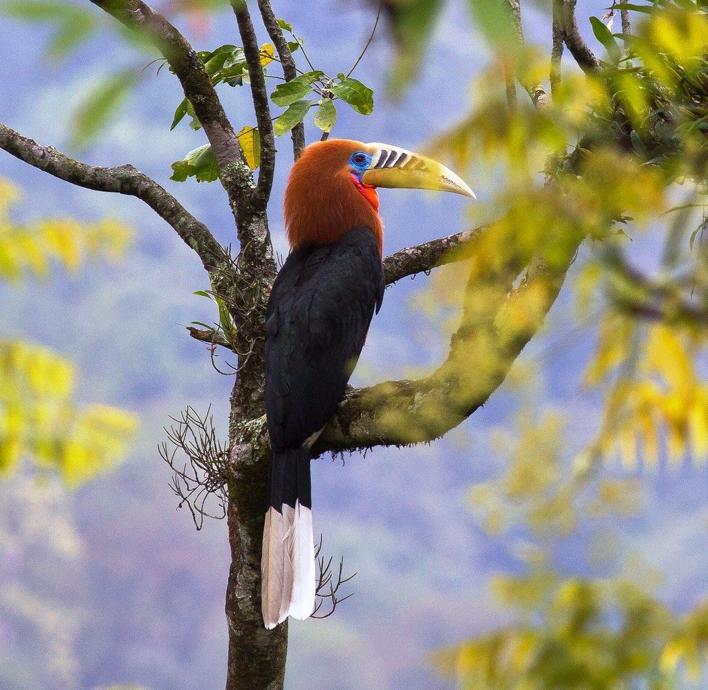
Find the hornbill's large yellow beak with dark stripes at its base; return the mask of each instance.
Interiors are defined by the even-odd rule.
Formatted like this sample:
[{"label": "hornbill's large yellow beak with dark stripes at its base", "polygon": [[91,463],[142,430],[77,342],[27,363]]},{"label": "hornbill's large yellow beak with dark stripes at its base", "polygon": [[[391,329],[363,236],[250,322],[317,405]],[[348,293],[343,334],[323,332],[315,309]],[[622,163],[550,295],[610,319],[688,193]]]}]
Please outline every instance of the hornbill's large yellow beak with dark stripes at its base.
[{"label": "hornbill's large yellow beak with dark stripes at its base", "polygon": [[372,158],[371,165],[362,174],[365,185],[455,192],[476,199],[467,184],[438,161],[389,144],[367,146]]}]

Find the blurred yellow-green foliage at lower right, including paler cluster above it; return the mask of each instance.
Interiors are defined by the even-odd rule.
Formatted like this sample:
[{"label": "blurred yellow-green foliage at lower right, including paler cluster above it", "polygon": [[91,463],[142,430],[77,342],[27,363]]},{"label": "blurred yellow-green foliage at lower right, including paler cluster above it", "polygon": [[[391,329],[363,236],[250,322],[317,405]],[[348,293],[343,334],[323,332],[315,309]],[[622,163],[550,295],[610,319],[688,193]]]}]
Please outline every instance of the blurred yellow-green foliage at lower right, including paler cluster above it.
[{"label": "blurred yellow-green foliage at lower right, including paler cluster above it", "polygon": [[[591,482],[573,472],[564,457],[561,415],[538,418],[532,405],[530,398],[520,410],[517,430],[498,432],[508,457],[501,476],[470,495],[487,529],[513,530],[520,538],[524,572],[491,583],[515,622],[441,650],[436,667],[470,689],[658,690],[700,682],[708,603],[674,614],[658,598],[651,574],[632,572],[607,553],[599,577],[564,575],[554,564],[573,536],[590,541],[588,524],[621,528],[641,506],[639,485]],[[611,540],[600,532],[599,543],[606,548]]]}]

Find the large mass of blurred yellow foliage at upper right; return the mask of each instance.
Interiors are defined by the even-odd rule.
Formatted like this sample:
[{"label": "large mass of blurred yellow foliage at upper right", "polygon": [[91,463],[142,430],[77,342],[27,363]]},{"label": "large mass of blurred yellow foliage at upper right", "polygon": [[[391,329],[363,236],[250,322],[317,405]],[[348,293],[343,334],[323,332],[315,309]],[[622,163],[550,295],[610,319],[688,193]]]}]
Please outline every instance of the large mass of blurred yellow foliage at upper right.
[{"label": "large mass of blurred yellow foliage at upper right", "polygon": [[[493,61],[469,115],[428,147],[494,180],[472,211],[487,225],[458,250],[469,260],[416,297],[448,332],[464,304],[462,368],[481,392],[515,357],[498,343],[543,321],[556,279],[537,276],[562,276],[579,241],[590,240],[575,287],[581,316],[599,322],[585,380],[603,391],[605,410],[577,458],[588,468],[617,455],[628,466],[642,457],[656,464],[663,446],[671,461],[708,454],[708,16],[689,4],[653,10],[603,69],[570,71],[541,108],[508,103],[504,86],[510,64],[522,84],[544,80],[549,64],[534,47]],[[680,185],[688,202],[672,206]],[[665,221],[657,265],[634,265],[632,238]]]}]

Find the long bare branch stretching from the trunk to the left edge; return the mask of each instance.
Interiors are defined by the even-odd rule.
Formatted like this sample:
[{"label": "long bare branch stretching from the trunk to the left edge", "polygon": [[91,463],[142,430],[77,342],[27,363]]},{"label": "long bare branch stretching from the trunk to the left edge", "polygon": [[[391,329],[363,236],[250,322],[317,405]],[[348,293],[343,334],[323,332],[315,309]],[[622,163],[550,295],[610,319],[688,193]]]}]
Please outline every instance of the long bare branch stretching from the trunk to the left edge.
[{"label": "long bare branch stretching from the trunk to the left edge", "polygon": [[80,163],[52,146],[42,146],[0,124],[0,149],[55,178],[99,192],[116,192],[137,197],[161,218],[202,260],[207,271],[224,265],[226,253],[205,224],[199,222],[152,178],[131,165],[101,168]]}]

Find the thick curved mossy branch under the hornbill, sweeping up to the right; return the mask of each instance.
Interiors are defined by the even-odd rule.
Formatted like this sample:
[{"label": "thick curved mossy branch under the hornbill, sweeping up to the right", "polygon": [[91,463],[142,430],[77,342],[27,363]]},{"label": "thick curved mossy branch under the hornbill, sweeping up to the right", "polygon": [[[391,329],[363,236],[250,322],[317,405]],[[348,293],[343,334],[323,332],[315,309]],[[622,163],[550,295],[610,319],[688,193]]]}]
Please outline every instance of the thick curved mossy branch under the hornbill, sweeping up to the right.
[{"label": "thick curved mossy branch under the hornbill, sweeping up to the right", "polygon": [[[462,323],[452,336],[447,360],[423,379],[385,381],[349,391],[314,444],[313,457],[432,441],[472,415],[502,384],[513,362],[541,328],[582,239],[578,236],[568,243],[564,260],[554,268],[542,264],[530,268],[522,286],[498,304],[494,299],[480,304],[479,292],[468,289]],[[510,275],[514,265],[508,267]],[[499,277],[490,276],[489,280]],[[499,314],[523,305],[520,300],[527,294],[539,299],[537,310],[528,314],[520,327],[509,328],[505,325],[508,319],[498,318]],[[490,313],[497,318],[489,318]]]}]

